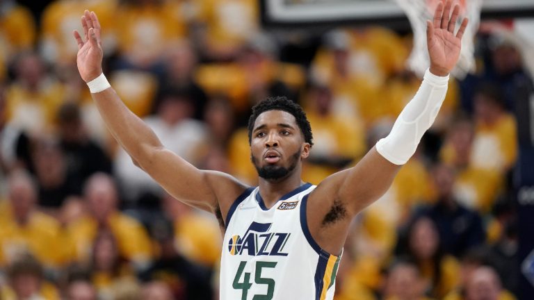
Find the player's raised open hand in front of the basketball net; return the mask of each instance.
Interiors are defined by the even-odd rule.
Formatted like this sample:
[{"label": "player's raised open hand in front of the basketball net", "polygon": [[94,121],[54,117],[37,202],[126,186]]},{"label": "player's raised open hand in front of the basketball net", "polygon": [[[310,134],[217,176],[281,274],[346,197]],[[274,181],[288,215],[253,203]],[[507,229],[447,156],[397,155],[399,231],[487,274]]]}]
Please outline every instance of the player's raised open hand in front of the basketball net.
[{"label": "player's raised open hand in front of the basketball net", "polygon": [[[430,72],[446,76],[458,62],[462,47],[462,35],[467,27],[467,18],[462,21],[458,33],[454,34],[460,6],[456,5],[451,15],[452,1],[447,0],[445,7],[439,3],[434,13],[434,22],[426,22],[426,42],[430,56]],[[451,15],[449,19],[449,15]]]}]

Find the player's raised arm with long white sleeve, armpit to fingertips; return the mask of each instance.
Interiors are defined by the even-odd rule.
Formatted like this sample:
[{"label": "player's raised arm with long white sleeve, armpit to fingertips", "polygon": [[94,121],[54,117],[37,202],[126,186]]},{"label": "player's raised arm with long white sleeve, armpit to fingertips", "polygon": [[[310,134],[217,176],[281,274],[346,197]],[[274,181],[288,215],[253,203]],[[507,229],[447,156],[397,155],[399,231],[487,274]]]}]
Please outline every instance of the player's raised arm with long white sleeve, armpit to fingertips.
[{"label": "player's raised arm with long white sleeve, armpit to fingertips", "polygon": [[415,153],[423,133],[430,128],[445,98],[448,73],[460,56],[464,19],[454,33],[460,8],[451,15],[451,1],[439,3],[433,22],[427,22],[430,68],[414,98],[396,120],[391,133],[380,140],[353,168],[325,179],[309,196],[308,220],[312,235],[321,244],[341,249],[350,220],[380,198],[400,167]]}]

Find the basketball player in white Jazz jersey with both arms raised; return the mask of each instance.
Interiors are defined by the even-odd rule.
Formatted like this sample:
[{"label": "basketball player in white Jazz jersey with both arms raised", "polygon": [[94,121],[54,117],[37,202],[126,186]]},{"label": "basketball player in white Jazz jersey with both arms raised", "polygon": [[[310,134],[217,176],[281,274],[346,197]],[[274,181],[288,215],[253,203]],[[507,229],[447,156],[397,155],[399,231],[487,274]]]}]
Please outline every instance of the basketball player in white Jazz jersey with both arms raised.
[{"label": "basketball player in white Jazz jersey with both arms raised", "polygon": [[[81,19],[78,69],[109,130],[138,167],[173,197],[214,213],[225,227],[220,299],[332,299],[350,221],[391,185],[434,121],[448,73],[467,26],[454,34],[458,6],[440,4],[428,22],[430,68],[391,133],[355,166],[318,186],[303,183],[302,160],[312,130],[300,106],[285,98],[254,107],[249,122],[252,163],[259,187],[220,172],[200,170],[165,148],[122,103],[102,74],[101,28],[94,12]],[[451,17],[449,17],[451,15]],[[351,138],[351,137],[347,137]]]}]

